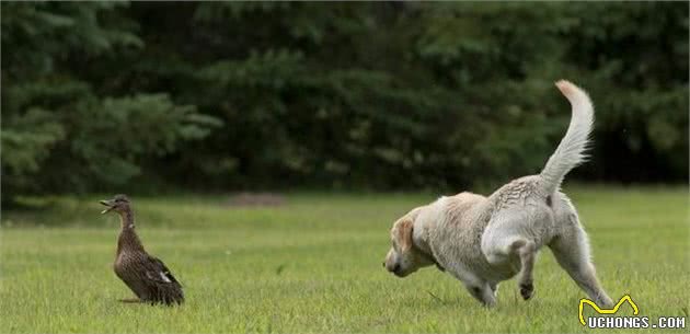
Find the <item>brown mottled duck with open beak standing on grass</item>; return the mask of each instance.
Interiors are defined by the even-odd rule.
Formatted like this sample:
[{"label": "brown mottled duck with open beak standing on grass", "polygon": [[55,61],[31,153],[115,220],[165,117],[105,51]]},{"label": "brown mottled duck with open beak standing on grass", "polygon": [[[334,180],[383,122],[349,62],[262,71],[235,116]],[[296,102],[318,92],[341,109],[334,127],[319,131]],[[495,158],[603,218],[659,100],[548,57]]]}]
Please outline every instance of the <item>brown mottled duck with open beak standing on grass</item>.
[{"label": "brown mottled duck with open beak standing on grass", "polygon": [[184,293],[182,286],[165,264],[149,255],[135,232],[134,211],[131,203],[125,195],[116,195],[113,199],[101,200],[107,208],[101,214],[115,211],[119,214],[122,230],[117,239],[115,255],[115,274],[135,295],[138,300],[147,303],[182,303]]}]

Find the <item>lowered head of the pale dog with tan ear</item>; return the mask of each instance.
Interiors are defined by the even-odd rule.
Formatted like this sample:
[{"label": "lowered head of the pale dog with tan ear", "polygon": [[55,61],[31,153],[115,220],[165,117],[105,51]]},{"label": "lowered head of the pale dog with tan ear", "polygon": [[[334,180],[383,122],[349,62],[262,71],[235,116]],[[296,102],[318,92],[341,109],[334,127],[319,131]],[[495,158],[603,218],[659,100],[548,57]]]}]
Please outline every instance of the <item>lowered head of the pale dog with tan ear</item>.
[{"label": "lowered head of the pale dog with tan ear", "polygon": [[414,227],[418,209],[398,219],[391,229],[391,250],[388,251],[383,266],[398,277],[405,277],[422,267],[434,264],[429,255],[416,244]]}]

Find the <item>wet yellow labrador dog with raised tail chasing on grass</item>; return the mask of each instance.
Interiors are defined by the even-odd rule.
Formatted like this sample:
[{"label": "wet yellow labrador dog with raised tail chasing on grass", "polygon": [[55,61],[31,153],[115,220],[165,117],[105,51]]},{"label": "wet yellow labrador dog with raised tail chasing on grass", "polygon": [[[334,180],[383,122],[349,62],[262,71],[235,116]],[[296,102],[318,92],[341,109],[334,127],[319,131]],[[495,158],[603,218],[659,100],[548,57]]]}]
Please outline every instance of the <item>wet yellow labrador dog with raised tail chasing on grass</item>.
[{"label": "wet yellow labrador dog with raised tail chasing on grass", "polygon": [[407,212],[391,230],[392,247],[383,263],[389,272],[405,277],[436,265],[491,307],[496,303],[498,284],[518,273],[520,295],[525,300],[532,296],[534,260],[541,246],[548,245],[598,306],[613,304],[595,275],[577,212],[560,192],[565,174],[584,160],[594,107],[587,93],[573,83],[562,80],[556,87],[570,101],[573,116],[543,171],[517,178],[488,197],[444,196]]}]

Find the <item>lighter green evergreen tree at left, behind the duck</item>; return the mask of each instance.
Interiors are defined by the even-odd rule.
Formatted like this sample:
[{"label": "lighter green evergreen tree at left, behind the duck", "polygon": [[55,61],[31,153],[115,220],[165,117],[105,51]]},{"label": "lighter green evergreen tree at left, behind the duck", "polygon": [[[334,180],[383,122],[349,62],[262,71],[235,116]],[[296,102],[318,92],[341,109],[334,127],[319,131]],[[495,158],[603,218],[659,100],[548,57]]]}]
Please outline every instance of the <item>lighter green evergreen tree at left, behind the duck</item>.
[{"label": "lighter green evergreen tree at left, behind the duck", "polygon": [[83,78],[83,64],[143,46],[119,5],[2,3],[3,199],[122,184],[139,159],[219,124],[168,94],[110,96]]}]

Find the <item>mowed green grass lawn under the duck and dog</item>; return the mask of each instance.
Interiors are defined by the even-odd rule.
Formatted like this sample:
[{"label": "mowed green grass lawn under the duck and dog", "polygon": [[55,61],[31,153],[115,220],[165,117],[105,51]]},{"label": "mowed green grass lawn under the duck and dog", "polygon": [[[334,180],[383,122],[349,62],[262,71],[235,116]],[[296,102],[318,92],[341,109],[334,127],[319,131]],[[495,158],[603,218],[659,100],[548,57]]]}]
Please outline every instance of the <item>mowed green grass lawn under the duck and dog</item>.
[{"label": "mowed green grass lawn under the duck and dog", "polygon": [[[566,188],[589,232],[599,278],[630,293],[640,315],[688,315],[688,189]],[[515,279],[481,307],[429,267],[400,279],[381,262],[395,218],[434,195],[288,194],[278,207],[228,196],[134,197],[137,231],[183,283],[182,307],[120,303],[112,269],[118,220],[99,197],[58,197],[2,212],[3,333],[507,333],[593,332],[586,297],[543,250],[536,296]],[[629,306],[621,310],[631,314]],[[591,312],[588,312],[590,314]],[[690,326],[690,324],[687,324]],[[634,330],[633,330],[634,331]],[[649,332],[634,331],[636,333]],[[687,330],[679,330],[682,332]]]}]

